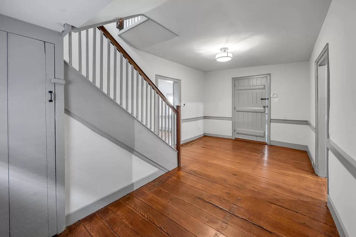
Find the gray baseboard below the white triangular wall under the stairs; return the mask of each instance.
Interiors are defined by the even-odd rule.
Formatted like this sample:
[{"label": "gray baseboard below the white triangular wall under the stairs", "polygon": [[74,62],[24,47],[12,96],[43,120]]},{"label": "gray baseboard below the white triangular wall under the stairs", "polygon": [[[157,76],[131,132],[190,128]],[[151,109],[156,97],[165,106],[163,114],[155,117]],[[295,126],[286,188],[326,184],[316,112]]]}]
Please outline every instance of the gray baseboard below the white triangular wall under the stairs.
[{"label": "gray baseboard below the white triangular wall under the stairs", "polygon": [[101,197],[98,200],[95,200],[91,202],[90,204],[73,211],[72,213],[69,213],[66,215],[66,226],[72,225],[74,222],[84,218],[85,216],[90,215],[91,213],[103,208],[104,206],[110,204],[111,202],[114,202],[121,197],[125,196],[126,194],[131,193],[132,191],[140,188],[141,186],[149,183],[150,181],[158,178],[162,174],[164,174],[162,170],[157,170],[151,174],[146,175],[145,177],[138,179],[136,181],[133,181],[130,184],[127,184],[123,186],[122,188],[104,196]]}]

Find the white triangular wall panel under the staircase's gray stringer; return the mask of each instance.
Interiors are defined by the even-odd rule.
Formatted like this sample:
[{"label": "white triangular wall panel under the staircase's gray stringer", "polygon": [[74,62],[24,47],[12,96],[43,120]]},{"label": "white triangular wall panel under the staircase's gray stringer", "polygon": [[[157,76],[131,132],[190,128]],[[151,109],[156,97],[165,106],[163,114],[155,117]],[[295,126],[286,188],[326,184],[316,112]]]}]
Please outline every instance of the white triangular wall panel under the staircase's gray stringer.
[{"label": "white triangular wall panel under the staircase's gray stringer", "polygon": [[158,169],[65,115],[66,215]]}]

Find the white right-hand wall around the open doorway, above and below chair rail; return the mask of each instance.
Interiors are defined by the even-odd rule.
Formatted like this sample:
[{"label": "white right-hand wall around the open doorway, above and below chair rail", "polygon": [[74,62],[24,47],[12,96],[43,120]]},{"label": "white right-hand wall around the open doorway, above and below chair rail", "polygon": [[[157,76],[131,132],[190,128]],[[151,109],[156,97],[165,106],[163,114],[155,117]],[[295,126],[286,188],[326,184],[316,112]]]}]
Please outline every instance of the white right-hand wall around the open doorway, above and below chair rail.
[{"label": "white right-hand wall around the open doorway, above and below chair rail", "polygon": [[[333,0],[310,57],[311,106],[309,120],[315,124],[314,62],[329,43],[330,67],[330,139],[356,158],[356,106],[354,55],[356,52],[356,1]],[[330,197],[345,224],[349,236],[356,236],[356,181],[329,152]]]}]

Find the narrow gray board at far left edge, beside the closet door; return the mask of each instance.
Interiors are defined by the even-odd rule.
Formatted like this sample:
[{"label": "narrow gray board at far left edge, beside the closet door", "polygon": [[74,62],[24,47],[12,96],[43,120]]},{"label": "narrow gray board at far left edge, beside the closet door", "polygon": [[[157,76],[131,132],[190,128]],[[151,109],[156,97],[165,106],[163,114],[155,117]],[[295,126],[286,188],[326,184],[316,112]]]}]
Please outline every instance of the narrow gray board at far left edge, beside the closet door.
[{"label": "narrow gray board at far left edge, beside the closet door", "polygon": [[7,153],[7,33],[0,31],[0,236],[8,237],[9,154]]}]

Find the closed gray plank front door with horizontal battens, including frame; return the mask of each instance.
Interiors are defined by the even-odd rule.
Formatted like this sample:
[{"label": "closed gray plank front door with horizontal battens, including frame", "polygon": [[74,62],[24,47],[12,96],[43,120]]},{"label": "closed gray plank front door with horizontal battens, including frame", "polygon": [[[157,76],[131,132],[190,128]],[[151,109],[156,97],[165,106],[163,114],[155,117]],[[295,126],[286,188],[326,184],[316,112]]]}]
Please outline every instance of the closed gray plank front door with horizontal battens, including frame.
[{"label": "closed gray plank front door with horizontal battens, including frame", "polygon": [[269,143],[269,74],[232,82],[233,138]]}]

